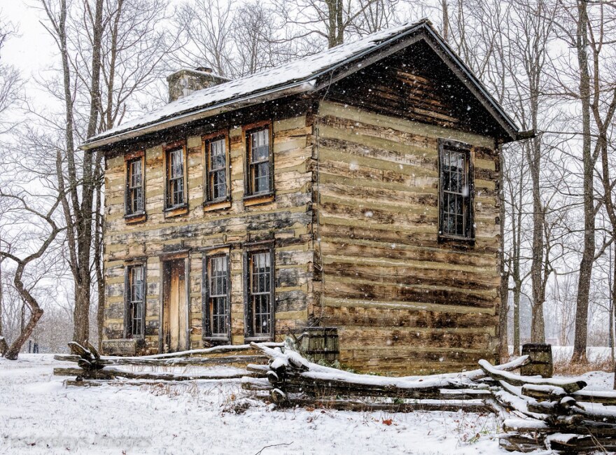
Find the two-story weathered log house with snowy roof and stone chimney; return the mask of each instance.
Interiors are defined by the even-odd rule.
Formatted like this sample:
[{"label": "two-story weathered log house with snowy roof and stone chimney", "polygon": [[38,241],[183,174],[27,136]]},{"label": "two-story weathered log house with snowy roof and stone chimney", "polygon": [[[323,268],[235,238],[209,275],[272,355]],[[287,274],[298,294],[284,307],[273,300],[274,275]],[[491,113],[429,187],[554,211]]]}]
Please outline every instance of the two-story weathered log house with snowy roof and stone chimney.
[{"label": "two-story weathered log house with snowy roof and stone chimney", "polygon": [[360,371],[495,358],[500,146],[521,136],[428,20],[168,82],[82,145],[104,154],[106,353],[327,327]]}]

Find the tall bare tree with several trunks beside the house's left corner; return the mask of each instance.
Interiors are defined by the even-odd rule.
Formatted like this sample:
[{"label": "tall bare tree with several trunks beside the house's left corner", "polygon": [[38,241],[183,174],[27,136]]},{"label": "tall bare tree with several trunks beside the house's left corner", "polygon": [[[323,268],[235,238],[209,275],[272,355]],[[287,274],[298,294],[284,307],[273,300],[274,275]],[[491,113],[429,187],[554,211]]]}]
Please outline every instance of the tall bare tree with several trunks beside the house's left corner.
[{"label": "tall bare tree with several trunks beside the house's left corner", "polygon": [[[61,60],[63,120],[47,121],[62,132],[55,153],[57,193],[66,224],[68,261],[75,286],[73,340],[90,337],[92,283],[97,279],[102,319],[102,155],[81,153],[80,141],[119,123],[130,101],[158,78],[165,41],[163,0],[39,0],[43,26]],[[50,90],[56,90],[47,84]],[[85,115],[82,115],[85,113]],[[92,270],[94,269],[94,274]]]}]

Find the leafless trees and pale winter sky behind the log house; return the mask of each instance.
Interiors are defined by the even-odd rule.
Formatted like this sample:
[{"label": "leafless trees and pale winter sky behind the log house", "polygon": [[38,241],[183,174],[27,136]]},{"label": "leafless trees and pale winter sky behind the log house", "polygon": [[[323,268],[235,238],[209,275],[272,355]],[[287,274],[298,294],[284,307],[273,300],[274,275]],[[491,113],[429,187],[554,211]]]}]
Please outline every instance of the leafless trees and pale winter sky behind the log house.
[{"label": "leafless trees and pale winter sky behind the log house", "polygon": [[[535,132],[503,146],[500,164],[503,356],[507,344],[519,351],[521,302],[531,304],[531,340],[573,337],[577,359],[585,358],[593,317],[608,315],[613,338],[614,1],[186,0],[172,9],[166,0],[38,0],[37,5],[58,60],[55,73],[38,76],[36,83],[57,99],[57,109],[31,107],[27,125],[11,132],[20,146],[9,166],[27,171],[30,183],[0,196],[6,207],[0,225],[9,225],[8,214],[20,213],[39,218],[39,227],[47,223],[45,236],[57,230],[41,258],[57,255],[66,264],[61,274],[73,284],[76,341],[90,336],[92,307],[99,334],[103,316],[103,161],[78,151],[81,141],[162,102],[166,96],[153,100],[148,94],[162,90],[160,80],[180,66],[209,66],[237,78],[426,15],[522,129]],[[20,98],[20,75],[2,64],[1,43],[10,35],[3,30],[11,30],[0,26],[0,130],[7,131],[13,124],[3,106]],[[38,201],[31,182],[43,188]],[[15,260],[36,253],[38,244],[22,246],[28,237],[10,232],[0,231],[0,273],[15,276]],[[41,232],[32,237],[41,241]],[[26,290],[41,286],[37,277],[48,273],[38,267],[41,258],[25,267],[33,269],[26,272]],[[509,340],[508,323],[514,325]]]}]

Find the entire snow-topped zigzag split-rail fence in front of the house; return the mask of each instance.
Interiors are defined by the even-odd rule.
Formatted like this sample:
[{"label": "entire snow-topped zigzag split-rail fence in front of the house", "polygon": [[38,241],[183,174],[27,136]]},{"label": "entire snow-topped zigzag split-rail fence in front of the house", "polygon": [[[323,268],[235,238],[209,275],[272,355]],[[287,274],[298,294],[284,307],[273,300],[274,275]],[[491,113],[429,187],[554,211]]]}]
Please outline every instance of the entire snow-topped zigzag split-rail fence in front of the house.
[{"label": "entire snow-topped zigzag split-rail fence in front of the house", "polygon": [[[311,363],[283,344],[251,343],[218,346],[183,353],[147,357],[104,357],[90,344],[69,344],[71,356],[57,360],[80,368],[56,368],[55,374],[75,375],[67,384],[99,385],[122,378],[123,384],[147,381],[237,379],[255,398],[279,407],[329,407],[350,411],[457,411],[496,412],[503,419],[500,447],[528,452],[549,449],[580,453],[616,450],[616,392],[585,391],[580,379],[521,376],[512,371],[530,360],[522,356],[503,365],[479,360],[468,372],[412,377],[381,377],[345,372]],[[248,354],[248,352],[251,352]],[[203,357],[203,356],[218,357]],[[267,365],[249,363],[267,360]],[[116,365],[221,365],[243,363],[241,374],[220,372],[174,374],[127,372]],[[248,365],[246,365],[248,363]],[[128,379],[128,380],[127,380]],[[144,382],[145,381],[145,382]]]}]

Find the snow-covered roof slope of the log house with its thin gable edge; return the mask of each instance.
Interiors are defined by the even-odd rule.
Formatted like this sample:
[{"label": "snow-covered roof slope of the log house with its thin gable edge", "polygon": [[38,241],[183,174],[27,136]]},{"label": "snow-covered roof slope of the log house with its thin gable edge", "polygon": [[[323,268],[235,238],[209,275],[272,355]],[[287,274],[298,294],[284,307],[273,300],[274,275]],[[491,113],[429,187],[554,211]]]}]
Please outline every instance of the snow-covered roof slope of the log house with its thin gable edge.
[{"label": "snow-covered roof slope of the log house with its thin gable edge", "polygon": [[[146,132],[150,132],[150,127],[169,126],[167,125],[167,120],[171,119],[174,120],[174,125],[181,125],[183,118],[186,122],[195,120],[195,114],[197,113],[205,114],[221,106],[248,99],[256,99],[265,94],[283,92],[284,90],[293,90],[294,93],[307,92],[314,88],[315,79],[323,75],[323,73],[337,69],[339,66],[359,59],[387,45],[391,41],[413,34],[422,28],[430,31],[433,36],[437,37],[437,33],[426,19],[378,31],[357,41],[337,45],[315,55],[309,55],[308,57],[231,80],[227,83],[197,90],[186,97],[87,139],[81,148],[87,150],[128,139],[128,132],[133,133],[130,134],[131,137],[135,137],[138,134],[146,134]],[[442,45],[451,52],[446,44]],[[459,59],[459,57],[455,57]],[[466,72],[470,71],[463,62],[459,61],[456,64],[461,64]],[[472,73],[470,74],[472,75]],[[473,82],[479,85],[479,88],[482,89],[489,102],[496,107],[499,113],[509,120],[512,130],[517,131],[517,127],[512,120],[508,118],[507,114],[498,106],[498,103],[485,91],[481,83],[476,78],[473,78]]]}]

